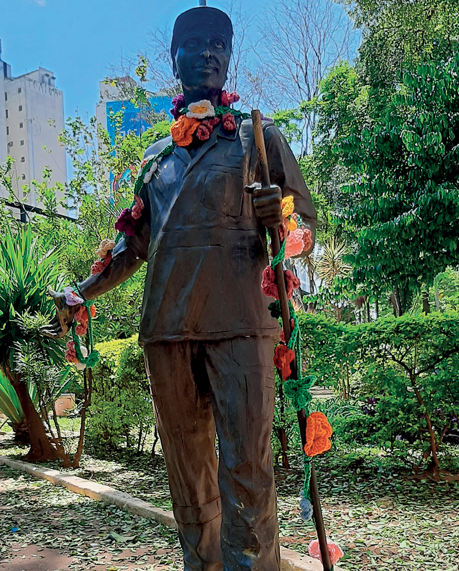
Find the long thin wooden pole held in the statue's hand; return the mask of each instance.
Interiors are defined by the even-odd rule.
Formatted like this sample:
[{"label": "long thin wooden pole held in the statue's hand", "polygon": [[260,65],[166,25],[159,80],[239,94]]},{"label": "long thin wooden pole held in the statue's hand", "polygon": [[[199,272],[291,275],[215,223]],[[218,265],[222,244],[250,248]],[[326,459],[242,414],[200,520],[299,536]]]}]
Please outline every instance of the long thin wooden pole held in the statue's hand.
[{"label": "long thin wooden pole held in the statue's hand", "polygon": [[[255,138],[255,145],[258,154],[258,162],[260,166],[260,178],[262,186],[269,186],[271,180],[269,179],[268,158],[266,156],[266,148],[264,144],[263,128],[261,127],[260,111],[258,109],[252,110],[252,123],[253,123],[253,136]],[[271,235],[272,254],[276,256],[280,250],[279,230],[277,228],[268,228]],[[292,328],[290,323],[290,309],[288,306],[287,286],[285,284],[284,268],[282,264],[277,264],[274,268],[276,274],[277,291],[279,292],[279,303],[282,317],[282,324],[285,333],[285,343],[288,343],[292,335]],[[297,363],[296,359],[290,365],[292,369],[293,378],[297,377]],[[304,408],[297,411],[297,419],[300,427],[301,444],[305,445],[306,440],[306,412]],[[330,562],[330,554],[328,552],[327,535],[325,533],[324,518],[320,507],[319,488],[317,487],[316,472],[314,464],[311,460],[311,480],[309,481],[309,489],[311,490],[311,500],[314,521],[316,523],[317,538],[319,540],[320,554],[322,556],[322,565],[324,571],[331,571],[332,564]]]}]

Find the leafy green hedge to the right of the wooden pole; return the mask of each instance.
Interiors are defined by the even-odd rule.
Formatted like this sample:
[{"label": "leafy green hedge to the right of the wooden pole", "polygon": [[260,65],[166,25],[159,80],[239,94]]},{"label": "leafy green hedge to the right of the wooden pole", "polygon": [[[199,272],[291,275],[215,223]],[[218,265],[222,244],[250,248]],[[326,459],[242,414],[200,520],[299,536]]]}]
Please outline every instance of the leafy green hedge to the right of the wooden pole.
[{"label": "leafy green hedge to the right of the wooden pole", "polygon": [[[459,313],[333,323],[300,316],[307,374],[358,403],[335,434],[436,471],[459,444]],[[457,448],[457,447],[456,447]]]}]

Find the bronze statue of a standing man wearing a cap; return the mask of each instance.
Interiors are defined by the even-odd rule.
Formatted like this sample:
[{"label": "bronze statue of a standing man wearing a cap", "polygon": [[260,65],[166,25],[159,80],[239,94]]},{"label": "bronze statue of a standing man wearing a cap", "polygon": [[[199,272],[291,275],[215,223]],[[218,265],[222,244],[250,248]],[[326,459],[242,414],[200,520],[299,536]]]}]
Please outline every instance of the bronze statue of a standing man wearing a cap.
[{"label": "bronze statue of a standing man wearing a cap", "polygon": [[[184,107],[221,104],[231,56],[230,18],[211,7],[180,14],[171,55]],[[312,233],[316,213],[279,130],[263,121],[272,186],[260,180],[250,119],[222,121],[163,156],[140,192],[134,235],[102,273],[80,284],[86,299],[148,263],[139,343],[170,482],[186,571],[279,571],[271,428],[273,336],[279,325],[260,289],[265,227],[282,222],[281,196]],[[157,155],[171,137],[154,143]],[[255,197],[255,198],[254,198]],[[73,313],[61,294],[47,333],[62,336]],[[217,455],[215,435],[218,435]]]}]

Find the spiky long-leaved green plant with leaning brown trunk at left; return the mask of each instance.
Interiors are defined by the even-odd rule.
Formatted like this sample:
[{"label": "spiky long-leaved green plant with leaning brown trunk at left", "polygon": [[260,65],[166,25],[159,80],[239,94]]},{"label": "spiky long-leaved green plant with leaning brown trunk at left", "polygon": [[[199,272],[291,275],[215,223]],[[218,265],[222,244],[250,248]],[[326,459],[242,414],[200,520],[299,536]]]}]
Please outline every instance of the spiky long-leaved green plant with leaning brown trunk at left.
[{"label": "spiky long-leaved green plant with leaning brown trunk at left", "polygon": [[42,420],[27,389],[27,379],[15,367],[18,348],[33,343],[37,360],[63,363],[62,341],[45,339],[36,328],[25,328],[21,316],[47,315],[53,302],[47,289],[59,287],[58,256],[34,236],[29,225],[0,236],[0,371],[17,394],[30,433],[29,459],[61,457],[46,436]]}]

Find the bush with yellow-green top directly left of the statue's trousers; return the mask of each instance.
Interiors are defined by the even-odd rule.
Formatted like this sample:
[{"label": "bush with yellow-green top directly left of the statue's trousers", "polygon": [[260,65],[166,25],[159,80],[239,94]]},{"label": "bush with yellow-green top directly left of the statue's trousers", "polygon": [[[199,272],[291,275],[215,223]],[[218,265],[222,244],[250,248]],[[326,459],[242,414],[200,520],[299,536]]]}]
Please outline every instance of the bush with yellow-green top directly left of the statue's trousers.
[{"label": "bush with yellow-green top directly left of the statue's trousers", "polygon": [[154,424],[153,407],[137,336],[96,345],[87,436],[98,446],[143,449]]}]

